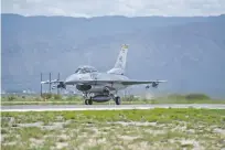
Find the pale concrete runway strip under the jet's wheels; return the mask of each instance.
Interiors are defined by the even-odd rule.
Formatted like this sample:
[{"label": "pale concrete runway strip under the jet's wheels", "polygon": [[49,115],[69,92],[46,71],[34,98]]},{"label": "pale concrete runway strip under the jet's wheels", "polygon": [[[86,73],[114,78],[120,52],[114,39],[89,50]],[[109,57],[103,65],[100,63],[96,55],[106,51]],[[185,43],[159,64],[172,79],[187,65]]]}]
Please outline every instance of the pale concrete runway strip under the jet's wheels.
[{"label": "pale concrete runway strip under the jet's wheels", "polygon": [[153,108],[225,109],[223,104],[156,104],[156,105],[12,105],[1,106],[1,111],[63,111],[63,110],[122,110]]}]

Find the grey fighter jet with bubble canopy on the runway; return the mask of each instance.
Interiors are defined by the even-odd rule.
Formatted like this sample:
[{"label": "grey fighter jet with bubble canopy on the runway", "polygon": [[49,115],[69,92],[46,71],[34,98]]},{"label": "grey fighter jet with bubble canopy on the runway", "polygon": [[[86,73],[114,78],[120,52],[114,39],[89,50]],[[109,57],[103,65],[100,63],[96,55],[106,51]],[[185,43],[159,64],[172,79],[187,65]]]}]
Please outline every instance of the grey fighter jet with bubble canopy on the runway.
[{"label": "grey fighter jet with bubble canopy on the runway", "polygon": [[135,81],[129,79],[125,75],[127,62],[128,45],[121,45],[115,66],[108,72],[100,73],[95,67],[86,65],[79,66],[74,74],[69,75],[65,81],[42,82],[41,84],[56,84],[56,88],[66,89],[67,85],[75,86],[83,93],[86,105],[93,105],[93,101],[104,103],[114,99],[116,105],[120,105],[121,100],[118,90],[128,86],[146,84],[146,88],[158,87],[159,83],[167,81]]}]

